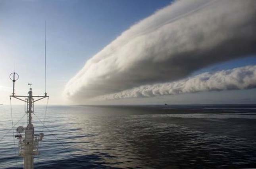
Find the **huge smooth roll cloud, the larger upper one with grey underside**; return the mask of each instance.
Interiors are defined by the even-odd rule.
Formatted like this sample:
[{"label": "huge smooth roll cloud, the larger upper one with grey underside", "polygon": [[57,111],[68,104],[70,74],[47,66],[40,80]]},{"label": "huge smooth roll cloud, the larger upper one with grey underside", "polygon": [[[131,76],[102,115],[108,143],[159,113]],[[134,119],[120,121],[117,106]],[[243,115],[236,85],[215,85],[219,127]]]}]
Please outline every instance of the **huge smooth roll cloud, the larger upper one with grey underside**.
[{"label": "huge smooth roll cloud, the larger upper one with grey underside", "polygon": [[[176,1],[89,59],[64,94],[81,102],[134,87],[157,87],[152,84],[174,82],[205,66],[254,54],[255,21],[255,0]],[[152,94],[141,92],[146,95]]]}]

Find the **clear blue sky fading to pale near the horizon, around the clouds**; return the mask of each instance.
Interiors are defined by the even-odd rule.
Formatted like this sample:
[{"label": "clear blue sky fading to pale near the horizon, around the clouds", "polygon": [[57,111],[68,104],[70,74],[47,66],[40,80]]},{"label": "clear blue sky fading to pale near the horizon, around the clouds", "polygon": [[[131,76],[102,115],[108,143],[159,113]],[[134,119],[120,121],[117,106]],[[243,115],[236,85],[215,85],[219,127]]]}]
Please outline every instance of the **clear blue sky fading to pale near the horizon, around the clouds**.
[{"label": "clear blue sky fading to pale near the horizon, around the clouds", "polygon": [[[90,57],[124,30],[170,3],[170,0],[0,0],[0,103],[9,103],[8,96],[12,93],[9,74],[14,70],[20,76],[16,82],[17,94],[28,91],[27,83],[33,84],[35,95],[44,93],[45,20],[50,104],[68,104],[62,97],[64,86]],[[245,56],[194,74],[255,64],[256,57]],[[255,103],[255,93],[255,89],[202,92],[104,103]]]}]

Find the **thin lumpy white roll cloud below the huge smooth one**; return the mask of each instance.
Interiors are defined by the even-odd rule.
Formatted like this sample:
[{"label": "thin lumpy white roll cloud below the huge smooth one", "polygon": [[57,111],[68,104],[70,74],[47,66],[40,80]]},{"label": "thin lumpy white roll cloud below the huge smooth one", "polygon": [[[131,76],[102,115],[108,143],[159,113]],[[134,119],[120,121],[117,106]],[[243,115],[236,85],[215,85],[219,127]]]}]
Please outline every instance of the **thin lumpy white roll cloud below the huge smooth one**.
[{"label": "thin lumpy white roll cloud below the huge smooth one", "polygon": [[114,100],[127,98],[178,95],[200,91],[222,91],[251,89],[256,87],[256,66],[245,66],[215,73],[203,73],[176,82],[142,85],[94,98],[94,100]]}]

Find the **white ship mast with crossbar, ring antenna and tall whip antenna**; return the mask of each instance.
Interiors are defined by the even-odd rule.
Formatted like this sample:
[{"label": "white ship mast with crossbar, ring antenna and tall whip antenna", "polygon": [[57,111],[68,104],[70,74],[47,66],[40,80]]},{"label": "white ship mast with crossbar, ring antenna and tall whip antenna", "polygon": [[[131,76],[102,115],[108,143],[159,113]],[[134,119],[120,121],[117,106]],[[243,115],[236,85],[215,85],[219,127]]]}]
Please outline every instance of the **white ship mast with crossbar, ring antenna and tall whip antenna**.
[{"label": "white ship mast with crossbar, ring antenna and tall whip antenna", "polygon": [[[44,25],[45,26],[45,25]],[[38,142],[42,141],[44,133],[35,134],[34,126],[32,124],[32,114],[34,114],[34,103],[44,98],[49,98],[46,93],[46,31],[44,30],[45,37],[45,93],[44,95],[33,96],[32,84],[29,87],[28,95],[15,95],[15,82],[19,79],[19,75],[15,72],[10,74],[10,79],[13,82],[11,98],[18,99],[27,103],[25,104],[25,113],[27,113],[27,127],[19,126],[16,131],[15,138],[19,139],[19,156],[24,159],[24,169],[34,169],[34,156],[39,154]],[[35,100],[36,98],[36,100]],[[25,137],[21,135],[25,131]]]}]

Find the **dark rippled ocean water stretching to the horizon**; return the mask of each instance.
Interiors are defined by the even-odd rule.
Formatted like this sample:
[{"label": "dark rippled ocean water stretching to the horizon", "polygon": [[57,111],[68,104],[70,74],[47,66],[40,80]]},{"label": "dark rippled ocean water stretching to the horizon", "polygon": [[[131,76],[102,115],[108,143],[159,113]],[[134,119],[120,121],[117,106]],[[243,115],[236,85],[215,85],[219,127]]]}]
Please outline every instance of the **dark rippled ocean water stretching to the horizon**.
[{"label": "dark rippled ocean water stretching to the horizon", "polygon": [[[13,106],[14,123],[23,111]],[[35,108],[41,121],[44,111]],[[0,116],[1,138],[12,127],[10,106]],[[48,129],[33,123],[45,134],[36,169],[256,168],[256,105],[48,106]],[[1,169],[23,168],[12,134],[0,140]]]}]

